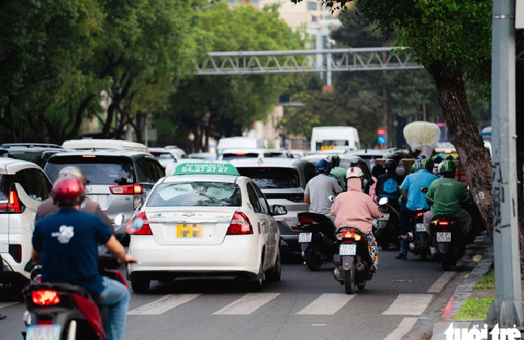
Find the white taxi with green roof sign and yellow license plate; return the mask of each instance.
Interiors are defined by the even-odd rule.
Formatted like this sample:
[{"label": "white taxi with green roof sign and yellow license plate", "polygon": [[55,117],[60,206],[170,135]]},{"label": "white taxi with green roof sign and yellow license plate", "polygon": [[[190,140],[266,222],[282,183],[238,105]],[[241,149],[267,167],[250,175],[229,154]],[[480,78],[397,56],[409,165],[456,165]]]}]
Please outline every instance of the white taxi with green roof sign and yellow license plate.
[{"label": "white taxi with green roof sign and yellow license plate", "polygon": [[275,215],[253,180],[232,164],[178,163],[174,176],[160,179],[126,229],[127,279],[145,293],[151,280],[176,277],[234,277],[260,290],[280,281],[280,231]]}]

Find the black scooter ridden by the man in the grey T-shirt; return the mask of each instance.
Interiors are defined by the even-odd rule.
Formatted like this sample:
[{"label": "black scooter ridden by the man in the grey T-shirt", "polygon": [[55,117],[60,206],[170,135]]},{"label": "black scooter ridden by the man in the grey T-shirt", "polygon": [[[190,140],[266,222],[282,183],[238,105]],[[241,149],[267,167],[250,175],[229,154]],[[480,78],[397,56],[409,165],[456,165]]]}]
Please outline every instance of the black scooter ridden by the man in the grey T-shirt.
[{"label": "black scooter ridden by the man in the grey T-shirt", "polygon": [[298,242],[309,270],[320,270],[322,263],[331,262],[337,253],[335,224],[329,217],[317,213],[298,213],[302,233]]}]

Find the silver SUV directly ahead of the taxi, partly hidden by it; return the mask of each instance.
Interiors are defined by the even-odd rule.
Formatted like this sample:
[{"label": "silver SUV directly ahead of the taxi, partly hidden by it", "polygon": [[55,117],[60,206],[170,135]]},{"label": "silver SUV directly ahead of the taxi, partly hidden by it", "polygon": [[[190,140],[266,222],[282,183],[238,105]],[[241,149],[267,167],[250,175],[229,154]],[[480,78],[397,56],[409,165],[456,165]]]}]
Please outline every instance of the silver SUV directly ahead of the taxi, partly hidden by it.
[{"label": "silver SUV directly ahead of the taxi, partly hidden by it", "polygon": [[286,215],[275,216],[282,237],[282,251],[300,252],[298,213],[308,211],[304,190],[317,175],[315,164],[294,158],[251,158],[231,160],[241,176],[251,178],[262,189],[270,205],[286,206]]}]

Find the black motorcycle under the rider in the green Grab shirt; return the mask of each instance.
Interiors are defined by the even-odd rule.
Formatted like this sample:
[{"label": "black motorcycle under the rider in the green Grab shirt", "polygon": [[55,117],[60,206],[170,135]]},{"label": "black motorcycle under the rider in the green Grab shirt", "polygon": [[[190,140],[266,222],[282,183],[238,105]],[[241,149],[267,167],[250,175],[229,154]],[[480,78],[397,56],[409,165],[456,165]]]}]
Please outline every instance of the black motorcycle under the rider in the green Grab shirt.
[{"label": "black motorcycle under the rider in the green Grab shirt", "polygon": [[450,270],[465,253],[465,237],[461,237],[461,224],[457,217],[447,214],[434,215],[431,220],[433,242],[443,270]]}]

